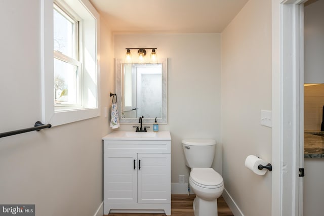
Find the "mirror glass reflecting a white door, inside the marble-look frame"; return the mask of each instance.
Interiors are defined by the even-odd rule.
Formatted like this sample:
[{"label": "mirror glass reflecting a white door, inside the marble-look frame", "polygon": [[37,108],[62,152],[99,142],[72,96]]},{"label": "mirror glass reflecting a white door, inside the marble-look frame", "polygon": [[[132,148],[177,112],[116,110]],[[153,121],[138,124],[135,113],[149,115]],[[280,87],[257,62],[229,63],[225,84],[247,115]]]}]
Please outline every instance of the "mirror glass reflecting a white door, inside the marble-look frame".
[{"label": "mirror glass reflecting a white door, inside the marble-look frame", "polygon": [[162,64],[123,64],[122,118],[162,117]]}]

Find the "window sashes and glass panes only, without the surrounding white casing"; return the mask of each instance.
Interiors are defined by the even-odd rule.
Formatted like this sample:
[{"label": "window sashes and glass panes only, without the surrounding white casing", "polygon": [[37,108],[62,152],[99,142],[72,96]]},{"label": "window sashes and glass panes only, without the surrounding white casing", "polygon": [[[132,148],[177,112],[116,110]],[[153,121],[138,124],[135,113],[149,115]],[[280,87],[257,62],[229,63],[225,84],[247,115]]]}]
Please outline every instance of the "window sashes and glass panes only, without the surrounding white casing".
[{"label": "window sashes and glass panes only, without the surrounding white casing", "polygon": [[55,110],[82,107],[82,63],[79,61],[79,22],[54,3]]}]

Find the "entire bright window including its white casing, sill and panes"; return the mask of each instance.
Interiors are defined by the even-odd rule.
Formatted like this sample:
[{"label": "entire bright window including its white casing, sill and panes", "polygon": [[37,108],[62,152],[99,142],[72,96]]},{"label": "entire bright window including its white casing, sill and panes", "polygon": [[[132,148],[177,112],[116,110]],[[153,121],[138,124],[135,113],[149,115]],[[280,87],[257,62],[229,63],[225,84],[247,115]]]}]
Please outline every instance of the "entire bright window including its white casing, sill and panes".
[{"label": "entire bright window including its white casing, sill and panes", "polygon": [[43,121],[99,116],[99,14],[88,0],[41,2]]}]

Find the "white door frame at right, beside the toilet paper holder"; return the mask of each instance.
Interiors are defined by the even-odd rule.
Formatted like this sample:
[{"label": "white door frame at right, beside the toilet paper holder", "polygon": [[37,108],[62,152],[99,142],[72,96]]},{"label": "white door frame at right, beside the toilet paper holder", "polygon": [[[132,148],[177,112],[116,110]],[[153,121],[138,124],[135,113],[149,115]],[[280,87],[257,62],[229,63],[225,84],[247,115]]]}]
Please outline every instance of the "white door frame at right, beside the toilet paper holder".
[{"label": "white door frame at right, beside the toilet paper holder", "polygon": [[272,216],[303,215],[303,3],[272,0]]}]

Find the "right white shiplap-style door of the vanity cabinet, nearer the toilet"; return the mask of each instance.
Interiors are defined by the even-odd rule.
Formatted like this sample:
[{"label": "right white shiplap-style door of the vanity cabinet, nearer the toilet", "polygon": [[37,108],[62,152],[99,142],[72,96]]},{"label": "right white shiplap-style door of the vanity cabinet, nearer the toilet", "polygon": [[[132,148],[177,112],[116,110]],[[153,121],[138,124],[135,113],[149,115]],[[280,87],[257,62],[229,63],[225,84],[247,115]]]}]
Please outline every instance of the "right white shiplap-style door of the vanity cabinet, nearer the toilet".
[{"label": "right white shiplap-style door of the vanity cabinet, nearer the toilet", "polygon": [[138,203],[171,202],[171,154],[138,154]]}]

